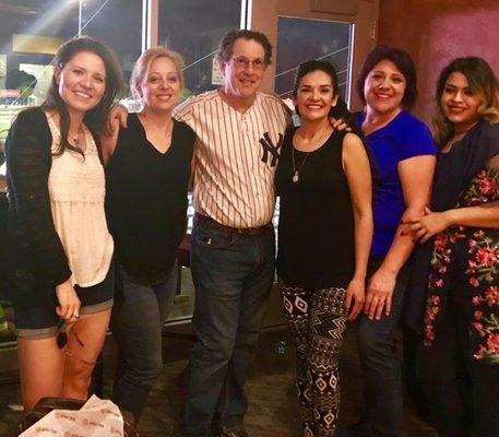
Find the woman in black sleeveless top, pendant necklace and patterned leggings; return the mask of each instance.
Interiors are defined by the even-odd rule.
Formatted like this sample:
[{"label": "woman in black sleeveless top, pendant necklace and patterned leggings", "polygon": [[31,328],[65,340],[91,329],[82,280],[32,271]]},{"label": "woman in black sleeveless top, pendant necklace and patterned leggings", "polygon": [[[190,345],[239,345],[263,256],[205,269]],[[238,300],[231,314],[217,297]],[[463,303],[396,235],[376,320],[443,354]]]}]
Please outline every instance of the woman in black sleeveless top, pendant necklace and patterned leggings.
[{"label": "woman in black sleeveless top, pendant necklace and patterned leggings", "polygon": [[338,352],[346,321],[363,309],[372,238],[369,160],[357,135],[331,126],[337,98],[331,63],[299,67],[294,103],[301,126],[286,132],[276,172],[277,275],[306,436],[335,433]]}]

